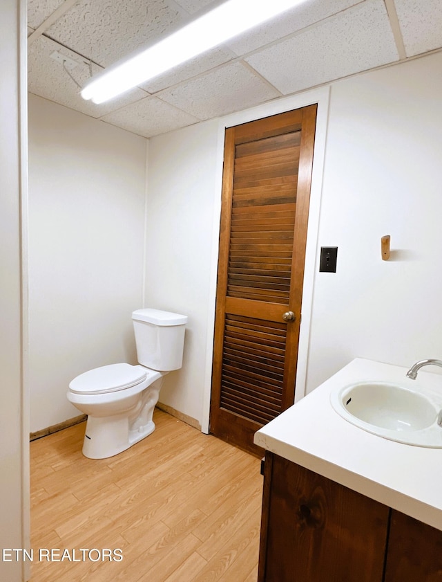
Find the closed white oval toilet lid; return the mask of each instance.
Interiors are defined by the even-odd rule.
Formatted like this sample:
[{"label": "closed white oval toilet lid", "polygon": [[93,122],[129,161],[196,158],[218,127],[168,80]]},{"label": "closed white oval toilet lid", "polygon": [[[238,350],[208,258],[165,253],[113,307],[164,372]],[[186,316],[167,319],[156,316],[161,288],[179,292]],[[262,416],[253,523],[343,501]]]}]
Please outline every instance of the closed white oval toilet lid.
[{"label": "closed white oval toilet lid", "polygon": [[101,394],[131,388],[146,379],[147,373],[140,366],[131,364],[111,364],[96,367],[80,374],[69,384],[77,394]]}]

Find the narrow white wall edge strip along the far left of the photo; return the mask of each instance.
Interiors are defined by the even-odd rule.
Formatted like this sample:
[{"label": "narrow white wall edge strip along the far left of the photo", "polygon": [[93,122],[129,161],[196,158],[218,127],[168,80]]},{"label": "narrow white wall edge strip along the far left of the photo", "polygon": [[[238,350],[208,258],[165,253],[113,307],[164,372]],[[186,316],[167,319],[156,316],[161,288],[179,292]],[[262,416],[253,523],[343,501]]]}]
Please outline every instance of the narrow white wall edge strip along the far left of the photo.
[{"label": "narrow white wall edge strip along the far left of the photo", "polygon": [[[26,6],[2,0],[0,18],[0,547],[29,547],[29,441],[26,369]],[[23,216],[23,223],[20,219]],[[0,579],[28,568],[0,558]]]}]

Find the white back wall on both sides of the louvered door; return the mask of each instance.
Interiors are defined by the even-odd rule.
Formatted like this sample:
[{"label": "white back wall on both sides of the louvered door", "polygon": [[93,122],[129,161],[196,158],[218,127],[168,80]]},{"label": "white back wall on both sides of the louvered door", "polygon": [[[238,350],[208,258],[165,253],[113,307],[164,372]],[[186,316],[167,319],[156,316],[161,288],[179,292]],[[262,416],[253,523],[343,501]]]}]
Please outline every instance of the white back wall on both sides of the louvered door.
[{"label": "white back wall on both sides of the louvered door", "polygon": [[[298,391],[356,356],[405,366],[442,356],[441,67],[437,53],[331,85],[327,136],[325,129],[318,136],[327,138],[318,248],[307,260],[311,268],[320,246],[338,246],[338,270],[315,266],[312,317],[302,319],[310,326],[307,383]],[[148,266],[157,277],[148,278],[146,302],[190,316],[183,370],[160,399],[202,424],[219,224],[217,133],[211,121],[149,145],[155,255]],[[387,234],[393,252],[383,262]]]}]

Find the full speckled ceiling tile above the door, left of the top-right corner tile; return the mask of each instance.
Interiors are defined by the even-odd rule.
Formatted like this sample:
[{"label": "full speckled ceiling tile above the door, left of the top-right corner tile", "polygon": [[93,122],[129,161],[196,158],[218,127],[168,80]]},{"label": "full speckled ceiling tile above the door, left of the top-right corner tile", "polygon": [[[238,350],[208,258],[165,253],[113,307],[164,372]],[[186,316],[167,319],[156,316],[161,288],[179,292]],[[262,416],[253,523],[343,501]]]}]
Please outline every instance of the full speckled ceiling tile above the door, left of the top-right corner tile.
[{"label": "full speckled ceiling tile above the door, left of the top-right corner tile", "polygon": [[284,94],[398,60],[383,0],[371,0],[247,62]]}]

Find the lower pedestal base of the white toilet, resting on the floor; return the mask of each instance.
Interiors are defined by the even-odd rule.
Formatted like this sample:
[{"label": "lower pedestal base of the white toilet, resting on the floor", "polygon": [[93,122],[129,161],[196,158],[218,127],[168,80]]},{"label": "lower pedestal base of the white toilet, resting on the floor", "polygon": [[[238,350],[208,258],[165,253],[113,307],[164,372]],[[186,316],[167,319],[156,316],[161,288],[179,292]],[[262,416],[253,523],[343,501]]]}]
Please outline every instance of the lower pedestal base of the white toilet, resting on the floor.
[{"label": "lower pedestal base of the white toilet, resting on the floor", "polygon": [[83,454],[88,459],[106,459],[118,455],[151,435],[155,430],[153,420],[144,426],[129,430],[127,416],[88,417],[84,435]]}]

